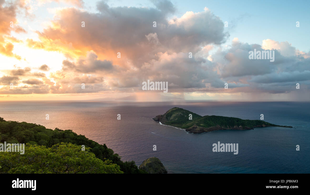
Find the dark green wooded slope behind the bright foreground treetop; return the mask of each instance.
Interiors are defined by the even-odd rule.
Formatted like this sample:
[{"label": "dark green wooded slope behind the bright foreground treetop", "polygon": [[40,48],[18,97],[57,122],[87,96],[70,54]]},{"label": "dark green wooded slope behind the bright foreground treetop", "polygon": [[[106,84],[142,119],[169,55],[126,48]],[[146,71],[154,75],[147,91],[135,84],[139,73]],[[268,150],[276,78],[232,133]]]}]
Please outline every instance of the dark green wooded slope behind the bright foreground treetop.
[{"label": "dark green wooded slope behind the bright foreground treetop", "polygon": [[100,160],[111,160],[112,163],[118,164],[124,173],[141,173],[133,161],[122,162],[121,157],[105,144],[101,145],[84,135],[77,135],[72,130],[61,130],[59,128],[51,130],[33,123],[5,121],[0,118],[0,143],[4,143],[4,141],[7,143],[30,143],[31,145],[46,147],[52,147],[61,142],[73,143],[79,147],[85,145]]}]

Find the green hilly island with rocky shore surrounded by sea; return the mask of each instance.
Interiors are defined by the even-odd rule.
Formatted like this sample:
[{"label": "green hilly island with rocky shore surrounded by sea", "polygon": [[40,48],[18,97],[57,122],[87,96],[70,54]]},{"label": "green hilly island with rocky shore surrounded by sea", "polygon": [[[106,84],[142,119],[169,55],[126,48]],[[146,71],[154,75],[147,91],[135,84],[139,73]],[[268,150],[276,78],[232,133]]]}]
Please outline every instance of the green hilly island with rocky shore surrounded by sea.
[{"label": "green hilly island with rocky shore surrounded by sea", "polygon": [[[191,115],[190,115],[191,114]],[[190,116],[192,117],[190,119]],[[263,120],[243,120],[225,116],[200,116],[191,111],[174,107],[163,115],[157,115],[153,120],[163,125],[185,129],[190,133],[205,133],[215,130],[250,130],[255,127],[290,127],[265,122]]]}]

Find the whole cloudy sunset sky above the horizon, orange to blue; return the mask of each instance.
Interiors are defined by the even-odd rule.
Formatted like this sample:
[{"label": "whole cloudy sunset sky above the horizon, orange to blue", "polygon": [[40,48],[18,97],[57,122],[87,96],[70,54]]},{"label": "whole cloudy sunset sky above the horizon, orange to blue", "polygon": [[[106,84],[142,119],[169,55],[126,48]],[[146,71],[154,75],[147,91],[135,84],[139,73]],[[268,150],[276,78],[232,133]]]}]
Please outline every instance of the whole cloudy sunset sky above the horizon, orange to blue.
[{"label": "whole cloudy sunset sky above the horizon, orange to blue", "polygon": [[0,101],[309,101],[309,4],[0,0]]}]

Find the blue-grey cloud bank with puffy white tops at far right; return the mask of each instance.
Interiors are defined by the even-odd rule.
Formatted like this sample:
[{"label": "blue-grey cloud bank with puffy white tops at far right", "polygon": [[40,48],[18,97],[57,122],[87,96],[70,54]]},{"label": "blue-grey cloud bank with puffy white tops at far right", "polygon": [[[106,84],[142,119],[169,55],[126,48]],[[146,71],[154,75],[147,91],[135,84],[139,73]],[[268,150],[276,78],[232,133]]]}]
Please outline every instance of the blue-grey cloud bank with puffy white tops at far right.
[{"label": "blue-grey cloud bank with puffy white tops at far right", "polygon": [[[249,51],[274,50],[275,60],[250,60]],[[274,40],[263,40],[262,46],[258,44],[247,44],[233,39],[227,49],[219,49],[211,55],[215,69],[218,70],[219,78],[211,82],[211,86],[223,86],[228,82],[228,88],[238,87],[239,89],[228,90],[233,93],[289,93],[295,90],[297,82],[307,86],[310,80],[309,58],[300,55],[288,42],[277,42]],[[246,88],[249,86],[250,89]],[[307,87],[306,87],[307,88]]]}]

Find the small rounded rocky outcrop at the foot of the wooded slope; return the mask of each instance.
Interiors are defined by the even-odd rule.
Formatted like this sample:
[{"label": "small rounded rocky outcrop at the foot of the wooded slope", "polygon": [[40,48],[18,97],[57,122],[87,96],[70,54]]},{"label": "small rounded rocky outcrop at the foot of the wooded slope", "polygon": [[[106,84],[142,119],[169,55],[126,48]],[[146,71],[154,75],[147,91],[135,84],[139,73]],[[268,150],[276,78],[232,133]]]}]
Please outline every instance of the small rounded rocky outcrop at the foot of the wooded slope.
[{"label": "small rounded rocky outcrop at the foot of the wooded slope", "polygon": [[162,162],[156,157],[151,157],[144,160],[143,163],[140,164],[139,169],[142,169],[148,173],[167,173],[167,170]]}]

